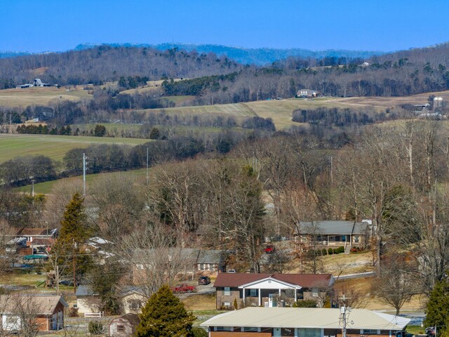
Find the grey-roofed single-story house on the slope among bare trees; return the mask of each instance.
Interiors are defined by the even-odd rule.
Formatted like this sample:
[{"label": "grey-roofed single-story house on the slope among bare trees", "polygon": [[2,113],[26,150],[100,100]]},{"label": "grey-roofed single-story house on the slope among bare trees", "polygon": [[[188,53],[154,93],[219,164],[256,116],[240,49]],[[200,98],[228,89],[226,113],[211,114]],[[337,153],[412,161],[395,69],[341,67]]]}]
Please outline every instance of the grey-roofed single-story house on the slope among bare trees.
[{"label": "grey-roofed single-story house on the slope among bare trees", "polygon": [[302,243],[314,241],[320,246],[344,246],[349,249],[354,246],[368,244],[373,226],[368,221],[356,222],[349,220],[320,220],[316,222],[301,222],[299,234]]}]

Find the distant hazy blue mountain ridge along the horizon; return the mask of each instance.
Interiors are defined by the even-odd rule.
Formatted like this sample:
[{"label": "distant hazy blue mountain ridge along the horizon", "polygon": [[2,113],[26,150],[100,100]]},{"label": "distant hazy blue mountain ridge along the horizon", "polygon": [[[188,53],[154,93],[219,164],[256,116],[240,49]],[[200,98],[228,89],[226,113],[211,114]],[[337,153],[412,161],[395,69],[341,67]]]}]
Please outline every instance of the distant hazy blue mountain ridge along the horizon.
[{"label": "distant hazy blue mountain ridge along the horizon", "polygon": [[375,55],[384,55],[384,51],[349,51],[344,49],[328,49],[326,51],[311,51],[302,48],[243,48],[234,46],[223,46],[216,44],[79,44],[74,48],[81,51],[96,46],[112,47],[137,47],[155,48],[166,51],[178,48],[185,51],[197,51],[198,53],[215,53],[219,56],[226,55],[232,60],[242,64],[267,65],[277,60],[283,60],[290,56],[299,58],[370,58]]}]

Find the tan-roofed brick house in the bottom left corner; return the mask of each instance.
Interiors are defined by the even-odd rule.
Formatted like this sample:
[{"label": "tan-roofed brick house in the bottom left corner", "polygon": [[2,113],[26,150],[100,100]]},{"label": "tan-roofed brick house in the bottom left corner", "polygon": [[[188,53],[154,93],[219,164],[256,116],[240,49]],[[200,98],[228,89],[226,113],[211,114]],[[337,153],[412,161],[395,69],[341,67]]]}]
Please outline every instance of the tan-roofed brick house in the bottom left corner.
[{"label": "tan-roofed brick house in the bottom left corner", "polygon": [[24,324],[32,324],[37,331],[60,330],[64,327],[67,307],[61,296],[1,295],[1,327],[6,331],[20,331]]}]

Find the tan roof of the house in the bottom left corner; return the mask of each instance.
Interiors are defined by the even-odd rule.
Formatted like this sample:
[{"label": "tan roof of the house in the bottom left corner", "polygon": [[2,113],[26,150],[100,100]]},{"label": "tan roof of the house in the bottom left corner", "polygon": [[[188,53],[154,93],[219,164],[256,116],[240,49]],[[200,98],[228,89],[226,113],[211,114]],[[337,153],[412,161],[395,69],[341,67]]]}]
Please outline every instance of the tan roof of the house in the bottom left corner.
[{"label": "tan roof of the house in the bottom left corner", "polygon": [[0,295],[0,312],[16,313],[25,309],[34,315],[52,315],[58,303],[69,306],[64,298],[55,295]]}]

